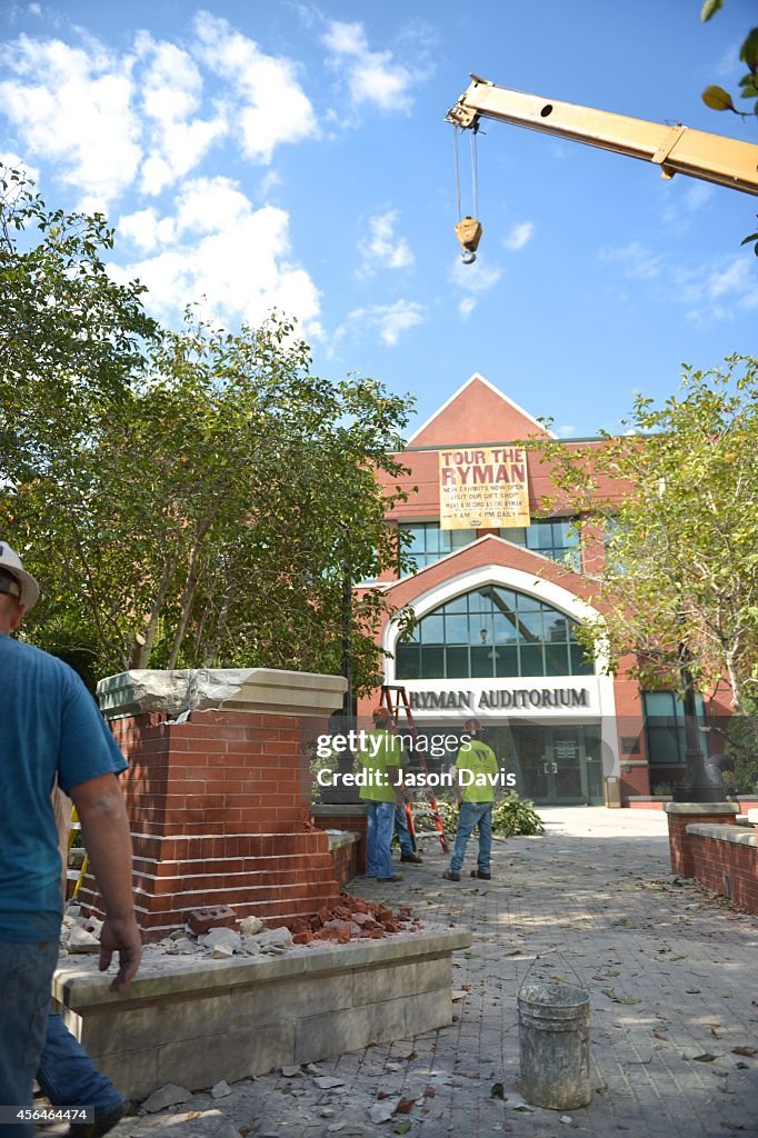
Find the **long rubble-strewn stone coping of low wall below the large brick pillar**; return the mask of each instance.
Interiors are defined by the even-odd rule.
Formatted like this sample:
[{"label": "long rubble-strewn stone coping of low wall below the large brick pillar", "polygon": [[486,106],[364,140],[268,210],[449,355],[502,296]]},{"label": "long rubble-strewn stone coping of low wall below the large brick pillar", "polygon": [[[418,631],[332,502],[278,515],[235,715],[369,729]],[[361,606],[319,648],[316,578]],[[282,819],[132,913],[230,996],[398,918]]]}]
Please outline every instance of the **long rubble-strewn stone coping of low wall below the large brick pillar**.
[{"label": "long rubble-strewn stone coping of low wall below the large brick pillar", "polygon": [[351,945],[319,945],[295,948],[283,956],[244,957],[231,960],[172,962],[138,972],[124,992],[112,992],[112,974],[92,972],[83,965],[72,964],[71,958],[57,968],[52,978],[52,996],[73,1012],[100,1005],[132,1006],[160,997],[198,996],[200,992],[242,988],[261,981],[289,980],[299,976],[319,981],[330,973],[352,968],[412,964],[426,957],[454,953],[471,945],[469,929],[448,929],[428,925],[422,932],[395,933],[382,940]]}]

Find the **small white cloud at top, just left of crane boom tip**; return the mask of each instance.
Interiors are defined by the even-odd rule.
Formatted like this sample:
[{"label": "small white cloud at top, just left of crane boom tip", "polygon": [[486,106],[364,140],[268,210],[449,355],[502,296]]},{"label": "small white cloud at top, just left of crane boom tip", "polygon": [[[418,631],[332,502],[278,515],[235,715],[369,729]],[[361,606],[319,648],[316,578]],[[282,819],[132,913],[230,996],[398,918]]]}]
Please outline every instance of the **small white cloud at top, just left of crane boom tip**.
[{"label": "small white cloud at top, just left of crane boom tip", "polygon": [[413,71],[392,51],[371,51],[362,24],[332,20],[323,35],[329,63],[344,75],[355,107],[373,104],[381,110],[411,108],[411,88],[426,77],[426,68]]}]

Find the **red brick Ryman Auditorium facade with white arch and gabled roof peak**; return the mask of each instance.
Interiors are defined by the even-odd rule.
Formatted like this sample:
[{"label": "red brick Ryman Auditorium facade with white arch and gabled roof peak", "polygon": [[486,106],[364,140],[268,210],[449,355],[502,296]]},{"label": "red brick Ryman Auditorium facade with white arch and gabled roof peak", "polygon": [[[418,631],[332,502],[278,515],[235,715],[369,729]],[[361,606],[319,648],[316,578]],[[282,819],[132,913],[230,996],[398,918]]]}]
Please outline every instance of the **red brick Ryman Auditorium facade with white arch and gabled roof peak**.
[{"label": "red brick Ryman Auditorium facade with white arch and gabled roof peak", "polygon": [[[601,803],[608,777],[628,801],[683,777],[684,719],[673,693],[638,690],[626,675],[631,660],[615,678],[605,676],[602,661],[587,660],[576,641],[576,624],[600,615],[587,576],[604,556],[596,522],[580,522],[577,531],[568,511],[541,517],[553,487],[550,464],[530,448],[528,527],[439,525],[440,452],[551,437],[475,374],[398,455],[410,470],[409,500],[390,520],[410,531],[417,570],[388,575],[381,585],[393,609],[412,607],[418,625],[410,643],[401,641],[396,621],[382,629],[385,683],[405,687],[428,740],[460,733],[467,718],[478,717],[517,789],[538,803]],[[601,493],[620,500],[624,485]],[[361,700],[359,715],[377,702],[378,693]],[[709,715],[728,714],[714,699],[699,698],[699,708],[705,727]]]}]

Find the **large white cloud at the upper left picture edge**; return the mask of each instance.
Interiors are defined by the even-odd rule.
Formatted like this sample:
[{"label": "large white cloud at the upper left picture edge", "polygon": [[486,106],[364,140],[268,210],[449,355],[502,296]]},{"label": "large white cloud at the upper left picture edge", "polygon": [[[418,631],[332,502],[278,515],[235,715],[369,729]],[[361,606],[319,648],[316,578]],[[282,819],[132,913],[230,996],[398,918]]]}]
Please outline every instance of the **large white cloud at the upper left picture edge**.
[{"label": "large white cloud at the upper left picture edge", "polygon": [[59,164],[82,208],[107,209],[141,159],[133,59],[26,35],[5,48],[11,77],[0,82],[0,105],[30,154]]}]

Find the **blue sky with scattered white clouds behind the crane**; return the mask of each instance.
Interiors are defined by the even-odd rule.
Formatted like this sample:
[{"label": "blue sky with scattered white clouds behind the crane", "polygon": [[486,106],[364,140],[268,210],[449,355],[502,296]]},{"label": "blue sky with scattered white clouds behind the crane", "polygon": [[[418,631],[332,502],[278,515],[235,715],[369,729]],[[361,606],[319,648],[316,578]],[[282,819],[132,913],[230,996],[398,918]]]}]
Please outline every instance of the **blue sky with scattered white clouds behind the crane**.
[{"label": "blue sky with scattered white clouds behind the crane", "polygon": [[[166,323],[277,306],[315,368],[417,398],[480,372],[566,437],[618,429],[681,364],[755,354],[758,199],[517,127],[479,138],[476,265],[453,233],[445,112],[506,86],[758,141],[736,89],[753,6],[0,0],[0,156],[49,204],[106,212],[114,273]],[[461,152],[463,206],[470,178]]]}]

